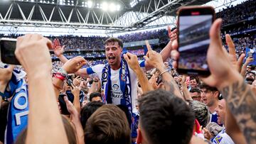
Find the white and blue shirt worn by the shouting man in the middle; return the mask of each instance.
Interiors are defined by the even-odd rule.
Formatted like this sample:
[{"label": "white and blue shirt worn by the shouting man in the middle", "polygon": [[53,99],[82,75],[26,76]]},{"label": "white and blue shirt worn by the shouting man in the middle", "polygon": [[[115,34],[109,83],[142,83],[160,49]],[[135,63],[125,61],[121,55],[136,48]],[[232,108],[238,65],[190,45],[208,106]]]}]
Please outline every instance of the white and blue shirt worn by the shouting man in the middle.
[{"label": "white and blue shirt worn by the shouting man in the middle", "polygon": [[[139,61],[139,65],[143,68],[144,67],[144,61]],[[93,74],[96,73],[97,77],[99,77],[100,81],[102,80],[102,70],[105,67],[105,65],[95,65],[92,67],[87,68],[87,74]],[[129,65],[128,65],[129,67]],[[121,69],[121,67],[118,70],[110,70],[111,72],[111,84],[112,84],[112,104],[121,104],[121,99],[122,99],[122,91],[120,89],[120,82],[119,82],[119,70]],[[137,113],[137,109],[136,109],[136,104],[137,104],[137,75],[135,74],[135,72],[129,67],[129,76],[131,79],[131,87],[132,87],[132,92],[131,92],[131,96],[132,96],[132,113]]]}]

